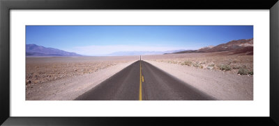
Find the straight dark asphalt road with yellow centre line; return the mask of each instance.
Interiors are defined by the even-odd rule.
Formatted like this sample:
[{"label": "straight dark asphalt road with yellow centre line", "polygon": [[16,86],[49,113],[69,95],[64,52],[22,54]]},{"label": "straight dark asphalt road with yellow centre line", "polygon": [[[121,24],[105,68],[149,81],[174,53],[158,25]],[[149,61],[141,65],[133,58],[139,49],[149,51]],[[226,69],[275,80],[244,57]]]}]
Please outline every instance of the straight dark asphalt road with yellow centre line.
[{"label": "straight dark asphalt road with yellow centre line", "polygon": [[214,100],[144,61],[127,66],[75,100]]}]

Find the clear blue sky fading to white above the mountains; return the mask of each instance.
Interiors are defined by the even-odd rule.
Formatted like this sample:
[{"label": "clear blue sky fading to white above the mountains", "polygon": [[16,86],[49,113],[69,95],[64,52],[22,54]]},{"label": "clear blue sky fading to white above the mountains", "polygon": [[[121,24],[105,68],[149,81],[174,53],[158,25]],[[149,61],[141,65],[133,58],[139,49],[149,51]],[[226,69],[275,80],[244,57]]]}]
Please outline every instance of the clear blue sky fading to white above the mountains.
[{"label": "clear blue sky fading to white above the mountains", "polygon": [[82,55],[198,49],[253,37],[253,26],[26,26],[26,43]]}]

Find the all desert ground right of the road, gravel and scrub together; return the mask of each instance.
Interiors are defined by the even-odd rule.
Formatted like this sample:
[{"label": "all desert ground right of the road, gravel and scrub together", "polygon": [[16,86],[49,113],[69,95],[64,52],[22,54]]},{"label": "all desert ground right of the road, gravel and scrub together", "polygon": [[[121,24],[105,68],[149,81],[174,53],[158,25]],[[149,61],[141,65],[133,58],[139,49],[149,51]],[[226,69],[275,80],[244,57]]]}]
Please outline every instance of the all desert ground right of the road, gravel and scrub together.
[{"label": "all desert ground right of the road, gravel and scrub together", "polygon": [[183,53],[144,55],[142,60],[218,100],[253,99],[253,55]]}]

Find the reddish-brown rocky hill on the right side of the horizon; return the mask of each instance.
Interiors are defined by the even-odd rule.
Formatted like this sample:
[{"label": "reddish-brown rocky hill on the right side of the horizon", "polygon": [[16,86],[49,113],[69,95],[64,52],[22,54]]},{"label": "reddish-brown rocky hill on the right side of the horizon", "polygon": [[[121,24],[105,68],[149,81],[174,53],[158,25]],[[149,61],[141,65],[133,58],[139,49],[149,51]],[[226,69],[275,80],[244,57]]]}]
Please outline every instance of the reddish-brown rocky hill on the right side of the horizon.
[{"label": "reddish-brown rocky hill on the right side of the horizon", "polygon": [[232,40],[225,44],[219,44],[218,46],[206,46],[193,51],[180,51],[176,53],[209,53],[209,52],[221,52],[221,51],[235,51],[235,53],[247,53],[253,52],[253,38],[252,39],[239,39]]}]

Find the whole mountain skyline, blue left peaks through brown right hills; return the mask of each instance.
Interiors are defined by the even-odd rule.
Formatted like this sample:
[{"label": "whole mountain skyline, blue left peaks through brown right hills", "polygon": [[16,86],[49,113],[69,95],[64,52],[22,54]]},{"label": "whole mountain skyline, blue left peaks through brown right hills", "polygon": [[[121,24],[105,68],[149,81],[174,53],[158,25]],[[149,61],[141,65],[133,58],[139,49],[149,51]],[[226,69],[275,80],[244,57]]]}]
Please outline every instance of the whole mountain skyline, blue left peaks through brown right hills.
[{"label": "whole mountain skyline, blue left peaks through brown right hills", "polygon": [[[174,51],[119,51],[110,53],[107,56],[119,56],[119,55],[161,55],[161,54],[176,54],[176,53],[209,53],[209,52],[221,52],[232,51],[233,53],[246,53],[246,55],[253,54],[253,38],[252,39],[239,39],[232,40],[225,44],[219,44],[217,46],[206,46],[199,48],[198,50],[174,50]],[[26,45],[27,56],[82,56],[77,53],[62,51],[56,48],[46,48],[44,46],[38,46],[36,44]]]}]

